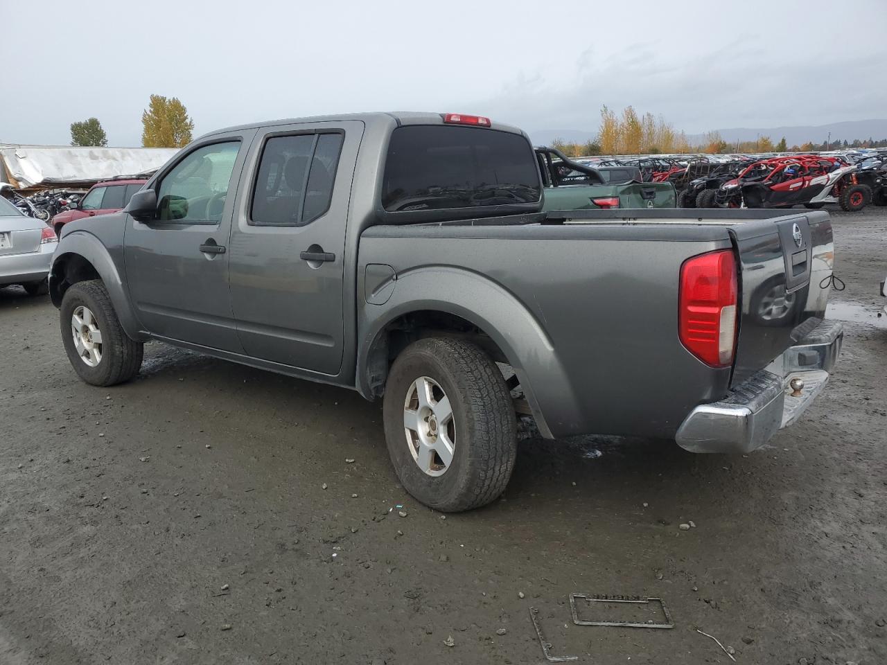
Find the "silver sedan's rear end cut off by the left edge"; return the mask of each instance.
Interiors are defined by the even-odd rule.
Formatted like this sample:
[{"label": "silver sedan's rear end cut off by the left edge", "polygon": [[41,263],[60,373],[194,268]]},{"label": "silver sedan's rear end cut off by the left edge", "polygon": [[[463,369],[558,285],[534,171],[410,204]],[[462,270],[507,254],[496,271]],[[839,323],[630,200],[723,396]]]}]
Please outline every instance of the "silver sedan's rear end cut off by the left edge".
[{"label": "silver sedan's rear end cut off by the left edge", "polygon": [[46,293],[46,276],[59,239],[55,231],[0,197],[0,288],[20,284],[27,293]]}]

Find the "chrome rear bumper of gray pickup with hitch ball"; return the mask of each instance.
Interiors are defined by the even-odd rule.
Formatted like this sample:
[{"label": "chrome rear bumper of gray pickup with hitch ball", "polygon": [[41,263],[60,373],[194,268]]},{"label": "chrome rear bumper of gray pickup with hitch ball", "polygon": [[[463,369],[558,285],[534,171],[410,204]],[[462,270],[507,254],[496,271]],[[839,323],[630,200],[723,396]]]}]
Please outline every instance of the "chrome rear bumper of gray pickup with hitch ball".
[{"label": "chrome rear bumper of gray pickup with hitch ball", "polygon": [[[690,452],[742,453],[764,445],[820,394],[843,340],[840,323],[823,321],[723,400],[690,411],[675,435],[679,446]],[[792,379],[801,379],[804,387],[793,391]]]}]

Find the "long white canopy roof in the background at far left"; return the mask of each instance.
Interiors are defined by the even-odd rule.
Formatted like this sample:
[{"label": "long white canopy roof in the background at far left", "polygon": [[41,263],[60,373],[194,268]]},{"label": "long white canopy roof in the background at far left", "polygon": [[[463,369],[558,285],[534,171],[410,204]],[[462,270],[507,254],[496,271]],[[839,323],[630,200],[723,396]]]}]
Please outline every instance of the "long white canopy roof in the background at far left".
[{"label": "long white canopy roof in the background at far left", "polygon": [[84,186],[115,176],[153,172],[178,151],[178,148],[0,144],[0,180],[19,189]]}]

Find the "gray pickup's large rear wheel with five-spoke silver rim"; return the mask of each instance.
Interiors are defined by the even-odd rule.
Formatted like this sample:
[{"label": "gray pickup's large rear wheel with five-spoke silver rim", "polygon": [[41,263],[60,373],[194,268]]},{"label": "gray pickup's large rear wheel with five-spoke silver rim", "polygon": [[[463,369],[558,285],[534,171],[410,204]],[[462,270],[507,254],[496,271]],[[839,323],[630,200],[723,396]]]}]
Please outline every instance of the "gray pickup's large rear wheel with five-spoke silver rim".
[{"label": "gray pickup's large rear wheel with five-spoke silver rim", "polygon": [[506,488],[517,421],[502,372],[474,344],[413,342],[385,384],[385,438],[398,479],[444,512],[489,504]]}]

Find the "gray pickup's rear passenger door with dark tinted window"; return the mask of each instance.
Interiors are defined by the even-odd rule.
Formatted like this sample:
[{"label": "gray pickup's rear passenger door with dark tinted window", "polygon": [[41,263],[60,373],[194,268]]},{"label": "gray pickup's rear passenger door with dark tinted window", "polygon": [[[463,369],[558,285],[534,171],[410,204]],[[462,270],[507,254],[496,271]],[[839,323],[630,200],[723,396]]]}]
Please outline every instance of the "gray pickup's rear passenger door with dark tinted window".
[{"label": "gray pickup's rear passenger door with dark tinted window", "polygon": [[363,129],[358,121],[311,122],[256,137],[229,258],[232,309],[248,356],[339,373],[345,226]]}]

